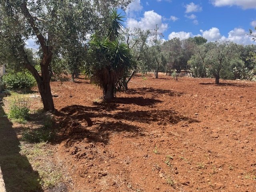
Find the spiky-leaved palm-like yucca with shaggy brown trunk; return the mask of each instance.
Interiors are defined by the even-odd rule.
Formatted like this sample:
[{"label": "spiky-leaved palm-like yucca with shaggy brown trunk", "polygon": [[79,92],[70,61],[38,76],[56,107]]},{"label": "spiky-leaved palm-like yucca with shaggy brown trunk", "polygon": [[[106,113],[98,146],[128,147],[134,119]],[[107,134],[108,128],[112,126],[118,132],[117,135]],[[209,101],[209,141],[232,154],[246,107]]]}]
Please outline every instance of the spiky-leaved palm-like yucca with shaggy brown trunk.
[{"label": "spiky-leaved palm-like yucca with shaggy brown trunk", "polygon": [[102,88],[104,99],[114,98],[118,79],[133,63],[128,46],[118,40],[123,28],[122,18],[124,16],[112,9],[108,34],[103,38],[95,34],[90,41],[93,73],[91,80]]}]

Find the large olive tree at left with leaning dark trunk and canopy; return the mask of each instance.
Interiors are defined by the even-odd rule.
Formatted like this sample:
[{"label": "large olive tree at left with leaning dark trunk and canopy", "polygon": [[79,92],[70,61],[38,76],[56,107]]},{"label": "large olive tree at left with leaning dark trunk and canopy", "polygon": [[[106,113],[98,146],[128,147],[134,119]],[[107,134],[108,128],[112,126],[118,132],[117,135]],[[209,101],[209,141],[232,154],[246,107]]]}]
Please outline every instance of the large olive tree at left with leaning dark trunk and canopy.
[{"label": "large olive tree at left with leaning dark trunk and canopy", "polygon": [[[126,7],[129,2],[130,0],[2,0],[1,62],[27,68],[36,79],[44,110],[54,111],[50,89],[53,56],[62,55],[73,60],[83,48],[87,34],[96,29],[104,31],[104,20],[108,18],[109,7]],[[29,38],[35,38],[39,45],[40,73],[30,63],[25,51],[26,40]],[[80,59],[76,59],[74,66],[80,62]]]}]

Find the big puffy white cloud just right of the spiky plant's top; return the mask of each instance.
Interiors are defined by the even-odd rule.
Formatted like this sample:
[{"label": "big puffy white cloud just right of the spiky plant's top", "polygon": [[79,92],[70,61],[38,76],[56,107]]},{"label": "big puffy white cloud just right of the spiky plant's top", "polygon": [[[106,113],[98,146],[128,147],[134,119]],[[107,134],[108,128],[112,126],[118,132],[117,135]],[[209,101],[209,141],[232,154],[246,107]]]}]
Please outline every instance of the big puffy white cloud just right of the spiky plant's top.
[{"label": "big puffy white cloud just right of the spiky plant's top", "polygon": [[141,28],[142,30],[154,29],[156,24],[159,28],[158,32],[164,32],[168,28],[167,23],[162,22],[163,18],[161,15],[154,12],[154,10],[144,12],[144,17],[140,20],[134,18],[128,18],[126,26],[129,28]]}]

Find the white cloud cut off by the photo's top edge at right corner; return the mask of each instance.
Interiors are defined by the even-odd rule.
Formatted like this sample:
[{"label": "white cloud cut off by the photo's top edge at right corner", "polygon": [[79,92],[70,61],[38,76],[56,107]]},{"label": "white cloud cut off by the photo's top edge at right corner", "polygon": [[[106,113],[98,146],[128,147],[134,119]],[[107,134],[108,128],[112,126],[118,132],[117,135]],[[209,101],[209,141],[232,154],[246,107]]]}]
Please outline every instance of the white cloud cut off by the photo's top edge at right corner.
[{"label": "white cloud cut off by the photo's top edge at right corner", "polygon": [[240,6],[243,9],[256,8],[256,0],[212,0],[212,4],[221,6]]}]

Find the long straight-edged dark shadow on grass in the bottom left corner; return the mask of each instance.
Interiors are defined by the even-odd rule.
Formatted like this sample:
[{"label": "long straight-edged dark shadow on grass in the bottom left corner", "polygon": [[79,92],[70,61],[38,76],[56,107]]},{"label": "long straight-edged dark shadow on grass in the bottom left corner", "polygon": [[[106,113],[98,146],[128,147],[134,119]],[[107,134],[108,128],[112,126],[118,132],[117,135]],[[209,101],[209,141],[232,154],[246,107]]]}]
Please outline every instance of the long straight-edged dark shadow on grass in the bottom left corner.
[{"label": "long straight-edged dark shadow on grass in the bottom left corner", "polygon": [[[2,100],[0,94],[0,101]],[[6,192],[41,192],[40,177],[26,156],[20,152],[20,142],[12,123],[0,106],[0,166]]]}]

